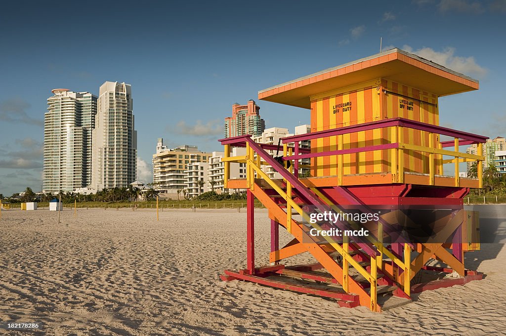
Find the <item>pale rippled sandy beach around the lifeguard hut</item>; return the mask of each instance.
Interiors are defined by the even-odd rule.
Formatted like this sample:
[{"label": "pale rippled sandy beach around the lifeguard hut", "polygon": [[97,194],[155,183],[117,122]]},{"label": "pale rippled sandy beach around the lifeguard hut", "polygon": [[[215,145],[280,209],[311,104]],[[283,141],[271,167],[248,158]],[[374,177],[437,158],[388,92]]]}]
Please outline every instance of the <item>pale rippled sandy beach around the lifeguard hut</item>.
[{"label": "pale rippled sandy beach around the lifeguard hut", "polygon": [[[256,214],[257,265],[269,219]],[[466,265],[486,277],[413,295],[371,313],[248,282],[246,214],[237,210],[3,211],[0,320],[38,321],[54,335],[482,335],[506,330],[506,249],[483,244]],[[282,236],[282,242],[288,236]],[[295,262],[311,261],[307,254]],[[33,334],[6,331],[7,334]]]}]

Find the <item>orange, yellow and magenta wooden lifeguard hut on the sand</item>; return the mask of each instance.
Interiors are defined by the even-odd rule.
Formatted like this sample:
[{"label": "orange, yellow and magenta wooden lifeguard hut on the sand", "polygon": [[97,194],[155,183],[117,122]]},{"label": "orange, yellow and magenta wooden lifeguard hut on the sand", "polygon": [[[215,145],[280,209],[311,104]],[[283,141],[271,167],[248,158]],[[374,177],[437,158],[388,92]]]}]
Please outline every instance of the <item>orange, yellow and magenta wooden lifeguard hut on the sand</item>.
[{"label": "orange, yellow and magenta wooden lifeguard hut on the sand", "polygon": [[[477,80],[392,49],[260,91],[261,100],[310,110],[311,133],[283,138],[278,158],[266,151],[276,146],[256,143],[249,135],[220,140],[225,187],[247,189],[246,268],[225,270],[221,278],[376,312],[411,302],[412,293],[481,279],[464,265],[464,253],[480,245],[478,216],[463,210],[463,197],[470,188],[482,187],[484,158],[459,147],[477,143],[481,153],[487,137],[439,126],[438,110],[439,97],[478,87]],[[301,146],[304,141],[310,148]],[[246,155],[230,157],[232,147],[245,147]],[[303,159],[311,160],[310,177],[299,177]],[[246,163],[246,179],[229,179],[231,162]],[[459,177],[462,162],[476,162],[478,176]],[[266,165],[282,179],[271,179],[262,170]],[[261,267],[255,265],[255,198],[271,219],[270,264]],[[322,229],[321,223],[310,223],[310,211],[353,207],[367,213],[378,206],[387,211],[367,224],[369,236],[310,234]],[[406,207],[430,211],[433,221],[417,222],[403,211]],[[338,224],[357,228],[353,221]],[[400,233],[406,225],[429,225],[437,234],[413,241]],[[283,247],[280,228],[293,236]],[[314,263],[290,265],[290,257],[305,252]],[[435,261],[443,265],[428,265]],[[427,278],[427,273],[438,280],[423,282],[420,275]]]}]

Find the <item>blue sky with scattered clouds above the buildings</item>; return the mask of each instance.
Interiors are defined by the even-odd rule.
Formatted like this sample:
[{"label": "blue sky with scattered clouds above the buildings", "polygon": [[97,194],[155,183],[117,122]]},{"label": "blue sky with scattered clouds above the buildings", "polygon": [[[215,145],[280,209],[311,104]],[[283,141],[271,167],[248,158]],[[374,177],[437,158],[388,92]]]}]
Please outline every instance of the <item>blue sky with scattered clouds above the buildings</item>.
[{"label": "blue sky with scattered clouds above the buildings", "polygon": [[40,190],[42,122],[51,89],[98,94],[132,84],[139,177],[156,138],[220,150],[232,104],[254,99],[267,127],[309,111],[258,91],[400,47],[480,80],[440,99],[441,125],[506,135],[506,1],[8,2],[0,11],[0,193]]}]

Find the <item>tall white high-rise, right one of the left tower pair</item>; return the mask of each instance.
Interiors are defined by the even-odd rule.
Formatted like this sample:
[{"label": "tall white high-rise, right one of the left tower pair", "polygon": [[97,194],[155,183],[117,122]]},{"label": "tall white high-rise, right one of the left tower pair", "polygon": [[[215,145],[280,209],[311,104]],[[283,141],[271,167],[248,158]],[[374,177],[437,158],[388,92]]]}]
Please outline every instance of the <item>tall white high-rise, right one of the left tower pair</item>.
[{"label": "tall white high-rise, right one of the left tower pair", "polygon": [[100,86],[92,132],[92,182],[96,190],[129,187],[137,176],[137,131],[132,86],[105,82]]}]

